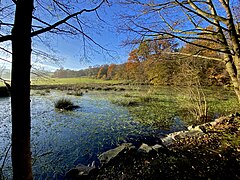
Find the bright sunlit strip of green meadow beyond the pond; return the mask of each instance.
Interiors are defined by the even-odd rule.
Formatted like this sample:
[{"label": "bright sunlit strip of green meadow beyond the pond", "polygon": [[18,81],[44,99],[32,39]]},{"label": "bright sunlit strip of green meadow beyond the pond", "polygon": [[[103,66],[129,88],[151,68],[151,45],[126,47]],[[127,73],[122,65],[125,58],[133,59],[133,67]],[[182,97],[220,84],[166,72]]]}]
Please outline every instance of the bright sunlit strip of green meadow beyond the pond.
[{"label": "bright sunlit strip of green meadow beyond the pond", "polygon": [[101,80],[91,78],[49,78],[34,79],[32,85],[64,85],[64,84],[118,84],[117,80]]}]

